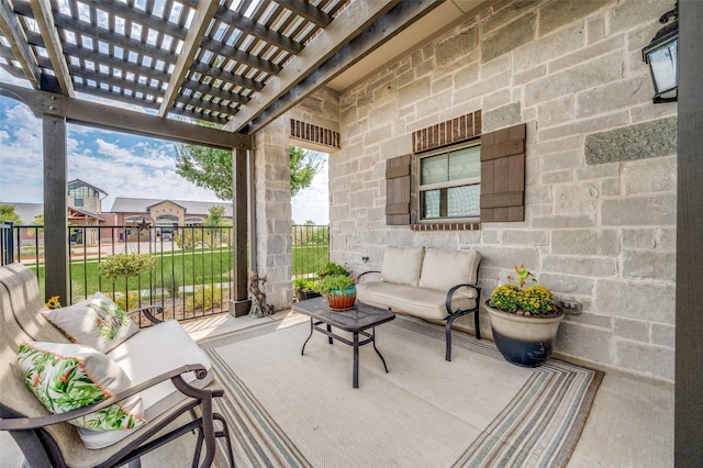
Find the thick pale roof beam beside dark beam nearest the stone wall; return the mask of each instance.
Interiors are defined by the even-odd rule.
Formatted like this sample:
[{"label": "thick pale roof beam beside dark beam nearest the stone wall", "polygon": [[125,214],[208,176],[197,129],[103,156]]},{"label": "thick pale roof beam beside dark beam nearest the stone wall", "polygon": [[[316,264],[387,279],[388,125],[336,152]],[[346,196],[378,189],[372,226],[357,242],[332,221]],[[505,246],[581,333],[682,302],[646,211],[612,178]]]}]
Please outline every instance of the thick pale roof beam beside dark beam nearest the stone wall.
[{"label": "thick pale roof beam beside dark beam nearest the stone wall", "polygon": [[275,77],[258,96],[225,125],[238,132],[279,98],[324,64],[337,51],[399,3],[398,0],[356,0]]}]

